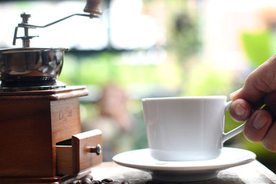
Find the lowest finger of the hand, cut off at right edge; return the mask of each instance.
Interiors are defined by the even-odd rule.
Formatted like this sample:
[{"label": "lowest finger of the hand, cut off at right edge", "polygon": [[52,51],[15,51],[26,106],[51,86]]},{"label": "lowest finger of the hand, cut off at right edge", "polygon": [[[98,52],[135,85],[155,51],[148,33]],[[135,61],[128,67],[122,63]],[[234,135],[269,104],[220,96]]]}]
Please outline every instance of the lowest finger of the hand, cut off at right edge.
[{"label": "lowest finger of the hand, cut off at right edge", "polygon": [[270,152],[276,152],[276,123],[274,122],[273,125],[268,130],[266,136],[262,140],[262,144],[266,148],[266,150]]}]

